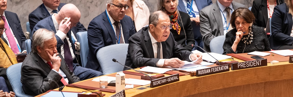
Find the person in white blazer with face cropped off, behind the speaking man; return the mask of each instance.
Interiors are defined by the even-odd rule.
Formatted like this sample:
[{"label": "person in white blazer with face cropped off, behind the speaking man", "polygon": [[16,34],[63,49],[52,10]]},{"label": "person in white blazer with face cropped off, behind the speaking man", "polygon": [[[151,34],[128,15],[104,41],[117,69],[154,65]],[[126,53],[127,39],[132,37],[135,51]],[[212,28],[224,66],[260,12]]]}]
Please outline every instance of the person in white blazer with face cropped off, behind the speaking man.
[{"label": "person in white blazer with face cropped off, behind the speaking man", "polygon": [[149,8],[142,0],[128,0],[127,6],[129,8],[125,10],[127,16],[130,16],[134,22],[136,32],[149,25]]}]

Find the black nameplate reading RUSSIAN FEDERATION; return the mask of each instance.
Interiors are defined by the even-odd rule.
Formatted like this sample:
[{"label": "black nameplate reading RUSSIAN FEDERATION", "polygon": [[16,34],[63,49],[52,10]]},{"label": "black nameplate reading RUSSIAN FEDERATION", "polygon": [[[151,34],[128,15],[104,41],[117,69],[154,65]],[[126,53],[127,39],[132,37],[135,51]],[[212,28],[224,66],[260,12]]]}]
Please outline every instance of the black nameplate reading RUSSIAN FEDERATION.
[{"label": "black nameplate reading RUSSIAN FEDERATION", "polygon": [[196,70],[197,77],[229,71],[229,64]]}]

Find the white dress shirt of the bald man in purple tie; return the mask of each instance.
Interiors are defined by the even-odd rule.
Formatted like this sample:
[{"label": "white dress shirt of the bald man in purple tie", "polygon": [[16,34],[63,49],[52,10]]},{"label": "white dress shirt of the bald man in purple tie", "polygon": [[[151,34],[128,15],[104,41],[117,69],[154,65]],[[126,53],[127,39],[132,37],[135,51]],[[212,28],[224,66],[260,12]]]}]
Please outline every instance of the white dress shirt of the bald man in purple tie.
[{"label": "white dress shirt of the bald man in purple tie", "polygon": [[[63,33],[62,31],[59,30],[59,24],[58,22],[56,21],[54,15],[56,15],[56,13],[54,13],[52,15],[52,20],[53,20],[53,23],[54,23],[54,26],[55,26],[55,29],[57,31],[56,35],[64,42],[64,39],[66,38],[67,42],[68,42],[68,45],[69,45],[69,49],[70,49],[70,52],[71,52],[71,56],[72,56],[72,59],[75,58],[74,56],[74,52],[72,50],[72,47],[71,47],[71,42],[69,41],[69,38],[66,36],[65,33]],[[64,45],[61,46],[61,55],[63,56],[64,58]]]}]

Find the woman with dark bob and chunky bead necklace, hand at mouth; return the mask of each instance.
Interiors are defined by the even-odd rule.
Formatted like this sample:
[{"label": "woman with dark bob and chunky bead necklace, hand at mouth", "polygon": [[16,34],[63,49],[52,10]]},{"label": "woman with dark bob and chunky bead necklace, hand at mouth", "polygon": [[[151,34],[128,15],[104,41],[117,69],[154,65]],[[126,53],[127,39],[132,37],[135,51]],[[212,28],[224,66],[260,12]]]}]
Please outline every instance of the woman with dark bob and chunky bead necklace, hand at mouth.
[{"label": "woman with dark bob and chunky bead necklace, hand at mouth", "polygon": [[226,33],[223,54],[271,50],[265,30],[252,26],[254,20],[247,8],[238,8],[232,13],[230,23],[234,29]]}]

